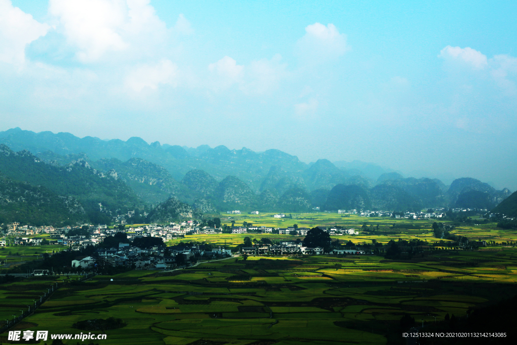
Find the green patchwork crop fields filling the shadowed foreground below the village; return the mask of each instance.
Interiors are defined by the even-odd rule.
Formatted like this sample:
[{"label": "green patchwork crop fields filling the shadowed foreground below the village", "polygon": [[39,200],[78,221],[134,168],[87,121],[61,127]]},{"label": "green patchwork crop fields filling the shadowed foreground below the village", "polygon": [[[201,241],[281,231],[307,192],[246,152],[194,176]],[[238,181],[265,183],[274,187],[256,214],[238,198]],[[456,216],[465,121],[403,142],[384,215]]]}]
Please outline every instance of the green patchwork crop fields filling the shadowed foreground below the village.
[{"label": "green patchwork crop fields filling the shadowed foreground below the village", "polygon": [[[34,305],[45,287],[62,281],[55,279],[3,286],[9,307],[0,316]],[[73,334],[81,332],[75,322],[114,317],[126,325],[105,331],[102,344],[383,344],[399,334],[405,313],[428,323],[447,313],[464,318],[469,308],[513,295],[516,282],[513,248],[431,251],[400,262],[234,257],[66,284],[19,329]]]}]

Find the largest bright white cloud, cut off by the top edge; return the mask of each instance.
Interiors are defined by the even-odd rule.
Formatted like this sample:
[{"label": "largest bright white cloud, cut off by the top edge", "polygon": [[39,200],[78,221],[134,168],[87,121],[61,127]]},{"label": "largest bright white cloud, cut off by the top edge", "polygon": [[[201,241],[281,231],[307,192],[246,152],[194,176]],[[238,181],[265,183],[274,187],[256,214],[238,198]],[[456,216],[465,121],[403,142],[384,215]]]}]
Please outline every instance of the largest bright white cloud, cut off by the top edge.
[{"label": "largest bright white cloud, cut off by the top edge", "polygon": [[83,63],[131,46],[148,50],[166,31],[149,0],[50,0],[49,12]]}]

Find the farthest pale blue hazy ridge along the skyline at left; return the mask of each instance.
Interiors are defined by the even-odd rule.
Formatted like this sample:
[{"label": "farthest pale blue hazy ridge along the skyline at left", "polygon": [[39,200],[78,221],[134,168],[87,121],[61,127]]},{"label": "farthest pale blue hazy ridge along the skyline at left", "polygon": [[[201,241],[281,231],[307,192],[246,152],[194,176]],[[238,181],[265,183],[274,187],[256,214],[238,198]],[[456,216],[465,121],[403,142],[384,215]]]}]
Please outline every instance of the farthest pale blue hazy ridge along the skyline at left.
[{"label": "farthest pale blue hazy ridge along the skyline at left", "polygon": [[13,151],[27,149],[35,155],[51,151],[60,156],[85,154],[92,161],[116,158],[123,162],[134,157],[141,158],[165,168],[176,181],[181,180],[190,170],[196,169],[206,171],[218,181],[233,175],[254,191],[260,189],[262,179],[271,166],[281,166],[286,172],[294,174],[308,168],[296,156],[276,149],[262,153],[245,147],[230,150],[222,145],[215,148],[201,145],[185,149],[178,145],[161,145],[159,142],[147,144],[141,138],[135,137],[127,141],[104,141],[93,137],[78,138],[70,133],[35,133],[14,128],[0,132],[0,143],[11,147]]}]

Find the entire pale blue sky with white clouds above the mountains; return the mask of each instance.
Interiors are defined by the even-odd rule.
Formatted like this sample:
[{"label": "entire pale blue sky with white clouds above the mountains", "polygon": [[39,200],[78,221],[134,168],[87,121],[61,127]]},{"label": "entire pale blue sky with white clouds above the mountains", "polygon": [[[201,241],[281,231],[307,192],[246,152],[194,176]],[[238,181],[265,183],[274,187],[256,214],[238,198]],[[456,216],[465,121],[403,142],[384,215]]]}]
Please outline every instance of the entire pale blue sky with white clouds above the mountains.
[{"label": "entire pale blue sky with white clouds above the mountains", "polygon": [[0,0],[0,130],[517,189],[517,2]]}]

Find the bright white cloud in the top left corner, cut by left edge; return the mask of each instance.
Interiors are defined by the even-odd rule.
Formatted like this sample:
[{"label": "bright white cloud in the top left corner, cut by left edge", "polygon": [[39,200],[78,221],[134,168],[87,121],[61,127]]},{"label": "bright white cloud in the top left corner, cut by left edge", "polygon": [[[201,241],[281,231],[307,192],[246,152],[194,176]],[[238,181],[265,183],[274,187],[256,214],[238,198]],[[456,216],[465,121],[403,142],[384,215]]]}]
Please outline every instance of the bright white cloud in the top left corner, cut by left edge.
[{"label": "bright white cloud in the top left corner, cut by left edge", "polygon": [[0,0],[0,61],[22,64],[27,44],[47,34],[49,28],[13,7],[10,0]]}]

